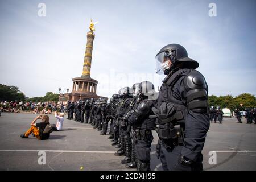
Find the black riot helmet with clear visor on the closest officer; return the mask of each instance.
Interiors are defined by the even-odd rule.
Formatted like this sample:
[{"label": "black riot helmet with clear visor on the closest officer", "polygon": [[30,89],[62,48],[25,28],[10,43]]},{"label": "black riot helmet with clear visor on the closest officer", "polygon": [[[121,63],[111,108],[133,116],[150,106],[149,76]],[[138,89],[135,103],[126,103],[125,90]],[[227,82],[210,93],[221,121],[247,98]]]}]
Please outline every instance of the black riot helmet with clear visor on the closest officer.
[{"label": "black riot helmet with clear visor on the closest officer", "polygon": [[[179,62],[182,62],[185,68],[196,69],[199,67],[199,63],[190,59],[186,49],[180,46],[180,44],[168,44],[164,46],[155,56],[155,59],[157,67],[156,73],[164,73],[164,75],[168,75],[170,71],[176,69],[177,63]],[[171,61],[171,64],[169,61]]]}]

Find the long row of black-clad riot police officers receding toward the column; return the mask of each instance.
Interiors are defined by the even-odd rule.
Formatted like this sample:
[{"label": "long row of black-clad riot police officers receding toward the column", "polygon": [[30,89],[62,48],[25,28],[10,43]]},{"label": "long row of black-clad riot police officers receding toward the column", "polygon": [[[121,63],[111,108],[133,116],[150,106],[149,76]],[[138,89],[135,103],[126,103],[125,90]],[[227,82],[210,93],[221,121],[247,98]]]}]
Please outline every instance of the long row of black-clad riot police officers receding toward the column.
[{"label": "long row of black-clad riot police officers receding toward the column", "polygon": [[[136,83],[104,98],[69,103],[69,119],[88,121],[105,135],[109,129],[115,155],[127,168],[150,170],[152,130],[159,136],[156,155],[163,170],[203,170],[209,129],[208,86],[196,71],[197,61],[179,44],[164,46],[156,55],[157,73],[166,77],[158,93],[150,81]],[[74,112],[74,114],[73,114]],[[89,120],[88,120],[89,116]],[[109,125],[110,123],[110,125]]]}]

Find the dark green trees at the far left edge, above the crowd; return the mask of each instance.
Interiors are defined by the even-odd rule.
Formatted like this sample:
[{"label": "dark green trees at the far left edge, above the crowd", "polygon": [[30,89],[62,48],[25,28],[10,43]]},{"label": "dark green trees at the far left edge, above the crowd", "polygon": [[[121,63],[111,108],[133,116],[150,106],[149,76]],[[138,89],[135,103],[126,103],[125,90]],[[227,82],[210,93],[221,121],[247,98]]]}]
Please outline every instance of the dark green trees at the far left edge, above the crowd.
[{"label": "dark green trees at the far left edge, above the crowd", "polygon": [[24,101],[25,95],[16,86],[0,84],[0,101]]}]

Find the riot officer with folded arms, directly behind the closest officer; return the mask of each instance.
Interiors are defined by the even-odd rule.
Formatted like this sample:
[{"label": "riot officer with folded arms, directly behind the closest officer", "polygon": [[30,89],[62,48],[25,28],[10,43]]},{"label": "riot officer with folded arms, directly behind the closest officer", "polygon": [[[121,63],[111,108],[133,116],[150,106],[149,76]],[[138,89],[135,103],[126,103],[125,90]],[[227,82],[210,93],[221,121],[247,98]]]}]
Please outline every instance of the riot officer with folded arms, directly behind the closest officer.
[{"label": "riot officer with folded arms, directly behind the closest officer", "polygon": [[150,147],[153,140],[152,130],[155,129],[155,118],[150,118],[155,94],[154,85],[150,81],[139,84],[140,94],[131,114],[127,115],[129,125],[133,126],[133,139],[137,157],[137,170],[150,170]]}]

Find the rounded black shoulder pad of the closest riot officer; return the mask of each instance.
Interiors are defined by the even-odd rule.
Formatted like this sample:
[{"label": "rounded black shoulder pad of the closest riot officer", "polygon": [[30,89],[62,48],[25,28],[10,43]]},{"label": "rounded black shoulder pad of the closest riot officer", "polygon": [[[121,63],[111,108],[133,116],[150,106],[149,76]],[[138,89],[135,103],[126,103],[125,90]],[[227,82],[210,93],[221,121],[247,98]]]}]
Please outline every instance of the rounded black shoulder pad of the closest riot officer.
[{"label": "rounded black shoulder pad of the closest riot officer", "polygon": [[193,69],[187,76],[184,78],[184,85],[187,90],[191,89],[207,89],[207,83],[204,76]]}]

